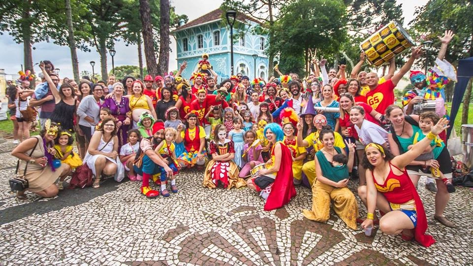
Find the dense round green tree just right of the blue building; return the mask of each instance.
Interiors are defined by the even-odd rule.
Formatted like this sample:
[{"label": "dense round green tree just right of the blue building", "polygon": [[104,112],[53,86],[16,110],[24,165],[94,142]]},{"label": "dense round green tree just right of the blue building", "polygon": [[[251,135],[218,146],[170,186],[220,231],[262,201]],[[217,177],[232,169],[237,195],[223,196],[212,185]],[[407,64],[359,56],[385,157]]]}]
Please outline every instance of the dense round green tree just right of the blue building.
[{"label": "dense round green tree just right of the blue building", "polygon": [[[322,8],[313,8],[320,6]],[[311,48],[323,48],[324,53],[338,53],[346,39],[346,7],[341,1],[296,0],[281,8],[281,17],[274,24],[274,38],[279,40],[270,47],[271,52],[280,54],[282,70],[292,69],[304,73],[304,66],[298,60],[287,58],[308,58]],[[336,19],[334,19],[336,18]],[[288,39],[290,37],[290,39]],[[304,63],[304,62],[303,62]]]}]

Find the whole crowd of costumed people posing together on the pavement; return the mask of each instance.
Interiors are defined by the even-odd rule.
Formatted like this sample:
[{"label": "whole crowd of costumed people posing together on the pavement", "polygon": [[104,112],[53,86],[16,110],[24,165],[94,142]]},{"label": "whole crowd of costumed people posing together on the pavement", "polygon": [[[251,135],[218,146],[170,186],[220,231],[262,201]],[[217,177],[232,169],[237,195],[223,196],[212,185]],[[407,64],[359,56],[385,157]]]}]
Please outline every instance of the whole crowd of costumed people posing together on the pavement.
[{"label": "whole crowd of costumed people posing together on the pavement", "polygon": [[[169,197],[178,192],[179,172],[195,167],[203,172],[204,187],[247,186],[263,198],[265,210],[282,207],[296,196],[295,186],[305,186],[312,191],[312,208],[303,210],[308,219],[326,222],[332,202],[351,229],[377,224],[384,233],[402,233],[428,247],[435,240],[426,234],[416,191],[421,175],[437,185],[434,218],[454,227],[443,216],[454,192],[445,164],[448,121],[444,107],[437,113],[413,111],[423,100],[444,100],[443,87],[456,79],[444,60],[452,36],[446,31],[439,37],[439,55],[427,73],[410,71],[415,89],[402,106],[395,104],[394,89],[422,47],[413,48],[397,72],[392,59],[381,78],[360,71],[363,52],[349,77],[346,66],[327,71],[321,60],[304,79],[276,67],[279,78],[238,73],[220,83],[207,54],[189,80],[181,76],[184,62],[175,75],[164,77],[118,81],[109,75],[106,82],[60,83],[52,63],[44,61],[42,83],[31,89],[22,80],[7,90],[19,143],[12,155],[19,171],[26,168],[28,190],[42,197],[57,195],[67,176],[85,165],[94,188],[104,176],[117,181],[127,176],[141,182],[144,196]],[[37,119],[27,113],[34,108],[40,109],[42,130],[29,137]],[[357,191],[348,188],[350,178],[358,178]],[[368,209],[366,219],[359,217],[355,193]]]}]

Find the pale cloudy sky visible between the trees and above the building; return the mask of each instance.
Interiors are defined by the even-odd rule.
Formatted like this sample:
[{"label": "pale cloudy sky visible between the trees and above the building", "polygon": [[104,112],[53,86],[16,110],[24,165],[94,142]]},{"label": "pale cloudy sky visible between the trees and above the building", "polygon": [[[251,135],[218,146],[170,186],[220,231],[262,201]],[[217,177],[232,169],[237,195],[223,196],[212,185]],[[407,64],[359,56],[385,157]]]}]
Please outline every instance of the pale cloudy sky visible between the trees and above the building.
[{"label": "pale cloudy sky visible between the trees and above the building", "polygon": [[[411,21],[414,16],[416,6],[425,5],[428,0],[396,0],[403,4],[403,15],[405,17],[405,25]],[[192,21],[214,9],[217,9],[222,0],[171,0],[171,5],[175,6],[177,14],[186,14],[189,21]],[[169,69],[177,69],[176,61],[176,44],[173,36],[171,39],[172,52],[169,56]],[[23,45],[17,44],[13,41],[12,36],[8,33],[0,35],[0,68],[5,69],[6,74],[14,74],[21,69],[23,64]],[[70,60],[70,49],[67,46],[59,46],[52,42],[40,42],[33,45],[36,49],[33,50],[33,62],[39,63],[41,60],[51,61],[56,68],[60,69],[59,75],[61,78],[72,77],[72,65]],[[91,47],[91,52],[77,51],[79,58],[79,72],[87,70],[92,73],[92,66],[90,61],[95,61],[95,72],[100,73],[100,57],[95,47]],[[136,45],[126,46],[124,42],[120,41],[115,44],[116,54],[114,57],[114,65],[138,65],[138,51]],[[158,51],[157,53],[158,54]],[[143,54],[143,62],[145,62]],[[110,55],[107,59],[108,70],[112,68],[112,60]],[[36,66],[37,67],[37,66]],[[39,67],[35,69],[39,71]],[[8,78],[8,77],[7,77]]]}]

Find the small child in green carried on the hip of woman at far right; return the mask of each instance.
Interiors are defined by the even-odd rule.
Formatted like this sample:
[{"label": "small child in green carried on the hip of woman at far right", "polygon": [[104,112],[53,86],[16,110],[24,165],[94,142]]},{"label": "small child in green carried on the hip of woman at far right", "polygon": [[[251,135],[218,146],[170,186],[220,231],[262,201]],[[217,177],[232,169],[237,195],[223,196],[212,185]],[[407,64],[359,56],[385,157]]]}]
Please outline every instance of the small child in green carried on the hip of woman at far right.
[{"label": "small child in green carried on the hip of woman at far right", "polygon": [[[419,128],[420,131],[414,134],[413,144],[422,140],[429,132],[432,126],[439,122],[439,115],[434,112],[423,112],[419,115]],[[422,171],[426,173],[432,173],[432,177],[438,178],[443,181],[445,186],[447,187],[447,191],[449,193],[455,192],[455,186],[443,175],[440,171],[439,167],[432,167],[426,166],[426,162],[429,160],[437,160],[440,153],[442,152],[443,148],[445,148],[445,143],[439,136],[432,140],[430,143],[431,147],[428,148],[428,151],[425,151],[419,157],[415,159],[415,161],[424,161],[424,167]],[[411,149],[413,145],[409,145],[407,149]],[[433,149],[432,149],[433,148]]]}]

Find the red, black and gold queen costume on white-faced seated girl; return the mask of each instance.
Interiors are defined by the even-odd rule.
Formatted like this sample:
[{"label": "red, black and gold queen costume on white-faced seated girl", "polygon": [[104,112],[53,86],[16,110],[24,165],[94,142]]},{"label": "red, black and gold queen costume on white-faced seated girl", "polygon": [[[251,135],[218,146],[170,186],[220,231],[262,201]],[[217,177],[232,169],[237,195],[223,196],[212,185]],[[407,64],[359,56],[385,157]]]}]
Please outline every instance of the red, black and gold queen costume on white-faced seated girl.
[{"label": "red, black and gold queen costume on white-faced seated girl", "polygon": [[[210,154],[224,155],[226,153],[235,153],[233,141],[227,138],[223,144],[215,140],[210,141],[209,148]],[[232,160],[210,160],[205,168],[202,185],[210,189],[216,188],[219,183],[226,189],[246,186],[245,180],[239,178],[238,174],[238,167]]]}]

